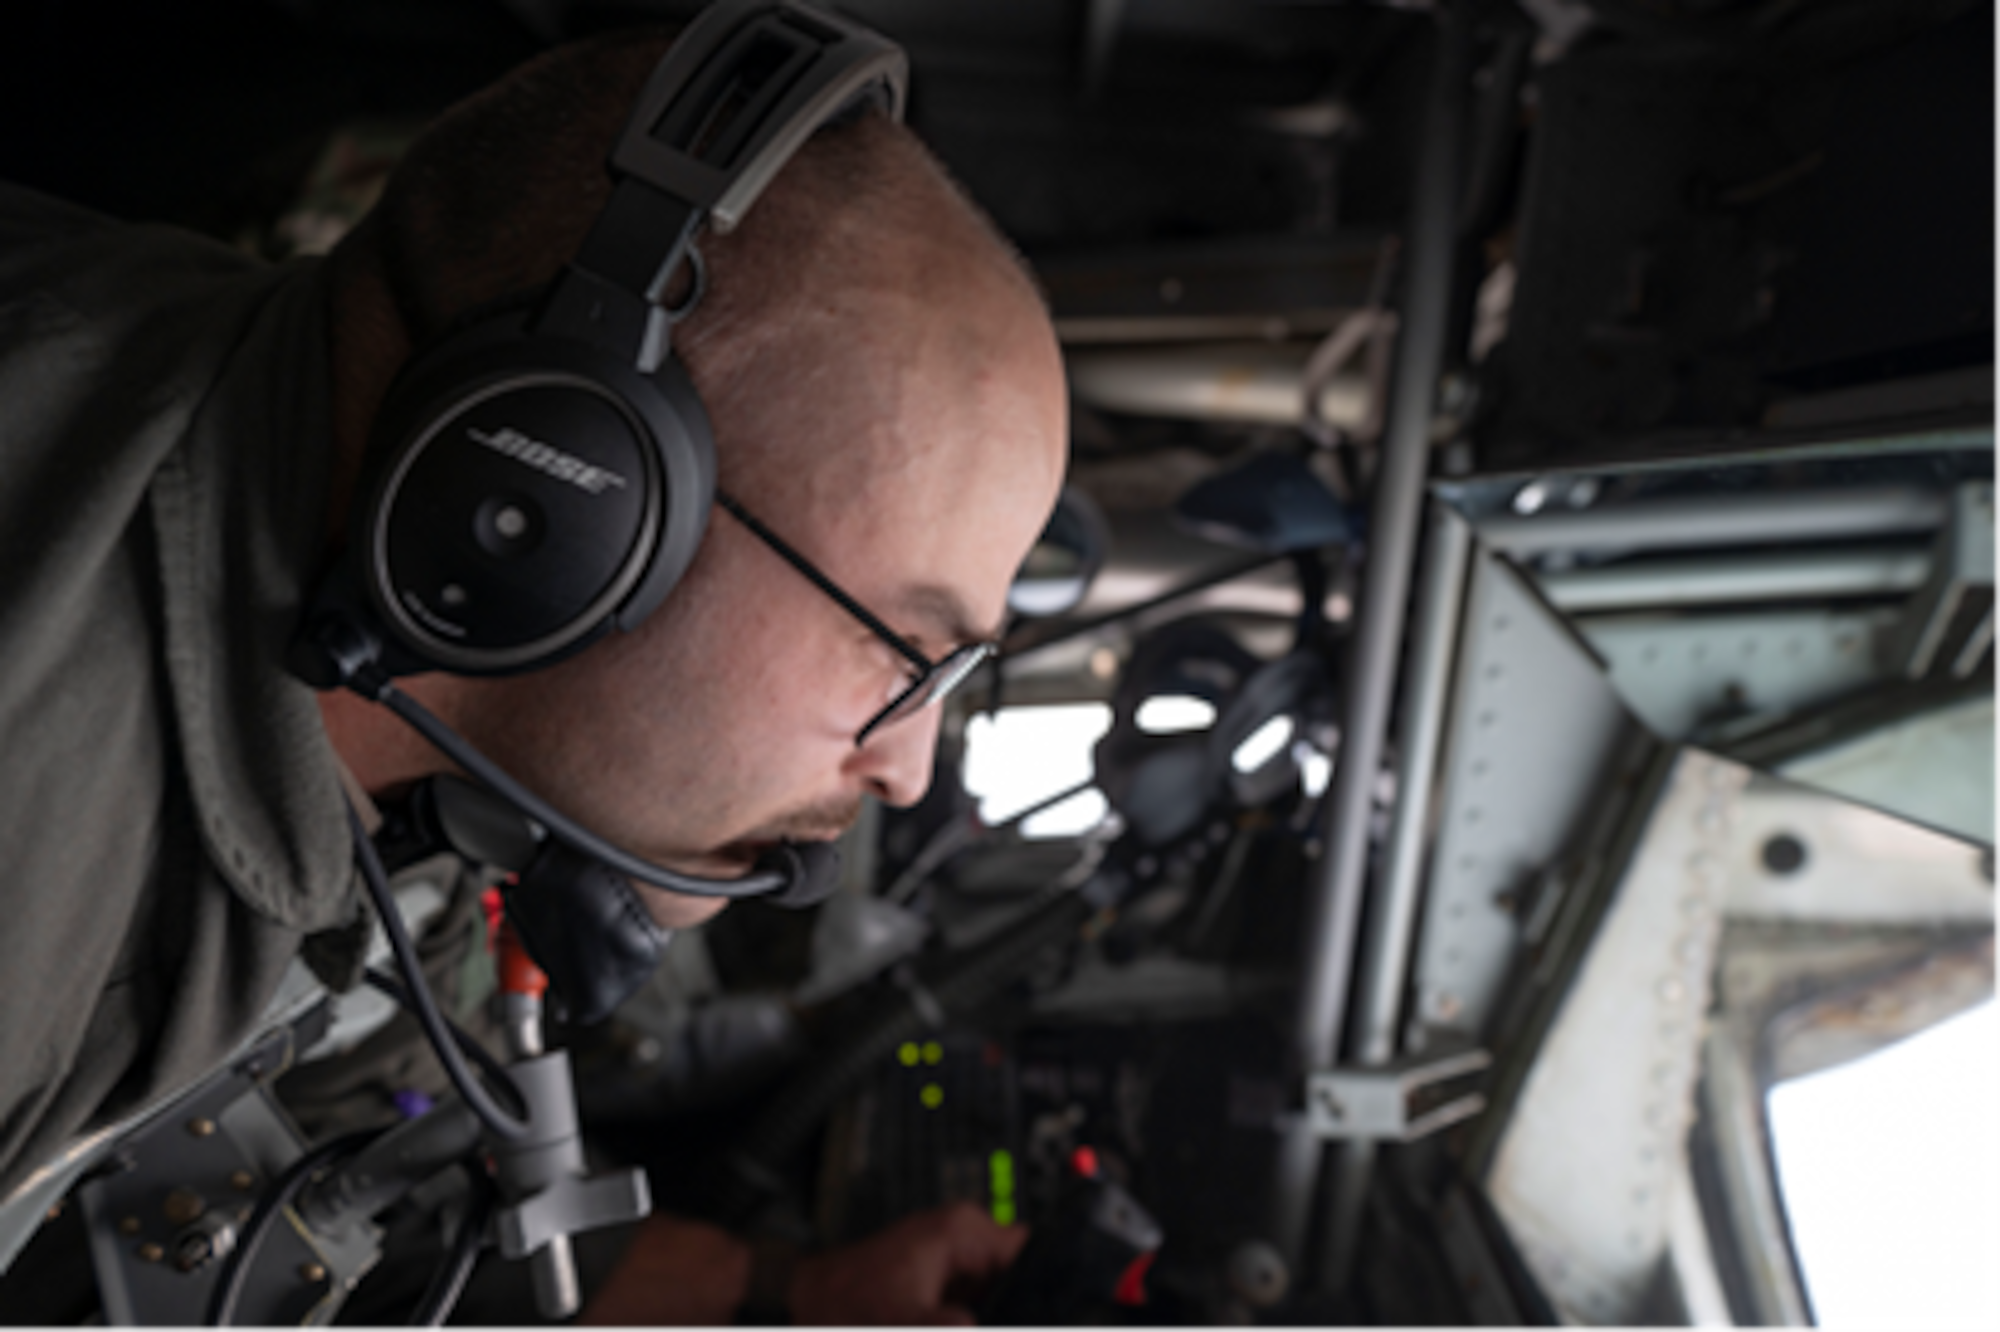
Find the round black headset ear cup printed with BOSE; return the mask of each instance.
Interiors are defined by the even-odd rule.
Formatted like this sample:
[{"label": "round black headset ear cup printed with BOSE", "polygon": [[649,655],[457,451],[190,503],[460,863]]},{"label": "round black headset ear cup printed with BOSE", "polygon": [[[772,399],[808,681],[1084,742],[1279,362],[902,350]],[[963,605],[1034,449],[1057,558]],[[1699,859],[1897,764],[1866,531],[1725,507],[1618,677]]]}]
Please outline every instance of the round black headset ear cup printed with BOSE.
[{"label": "round black headset ear cup printed with BOSE", "polygon": [[398,380],[348,560],[424,666],[514,674],[634,628],[700,546],[714,444],[678,364],[646,376],[518,320]]}]

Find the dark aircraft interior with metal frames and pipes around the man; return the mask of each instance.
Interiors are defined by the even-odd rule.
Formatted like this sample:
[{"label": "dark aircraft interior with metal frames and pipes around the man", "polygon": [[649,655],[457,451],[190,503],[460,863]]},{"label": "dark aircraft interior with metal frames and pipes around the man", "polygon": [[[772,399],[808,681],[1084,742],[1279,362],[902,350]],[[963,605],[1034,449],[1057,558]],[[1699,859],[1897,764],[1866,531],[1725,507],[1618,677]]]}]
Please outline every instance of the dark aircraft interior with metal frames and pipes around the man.
[{"label": "dark aircraft interior with metal frames and pipes around the man", "polygon": [[[430,114],[696,8],[16,6],[0,178],[324,252]],[[1774,1108],[2000,996],[2000,4],[836,8],[1044,288],[1068,484],[930,794],[562,1032],[592,1160],[1024,1222],[998,1332],[1862,1326]],[[64,1326],[200,1312],[116,1224],[236,1158],[104,1146],[0,1302],[68,1236]]]}]

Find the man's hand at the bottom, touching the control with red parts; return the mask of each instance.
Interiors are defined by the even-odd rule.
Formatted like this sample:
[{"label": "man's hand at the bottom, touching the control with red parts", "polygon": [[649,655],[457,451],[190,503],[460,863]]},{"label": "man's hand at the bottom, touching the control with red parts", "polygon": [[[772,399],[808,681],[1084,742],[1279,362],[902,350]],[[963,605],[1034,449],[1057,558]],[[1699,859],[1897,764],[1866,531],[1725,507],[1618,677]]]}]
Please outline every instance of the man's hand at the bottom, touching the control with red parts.
[{"label": "man's hand at the bottom, touching the control with red parts", "polygon": [[794,1332],[976,1332],[966,1308],[1020,1254],[1028,1232],[970,1202],[906,1216],[858,1244],[802,1258]]}]

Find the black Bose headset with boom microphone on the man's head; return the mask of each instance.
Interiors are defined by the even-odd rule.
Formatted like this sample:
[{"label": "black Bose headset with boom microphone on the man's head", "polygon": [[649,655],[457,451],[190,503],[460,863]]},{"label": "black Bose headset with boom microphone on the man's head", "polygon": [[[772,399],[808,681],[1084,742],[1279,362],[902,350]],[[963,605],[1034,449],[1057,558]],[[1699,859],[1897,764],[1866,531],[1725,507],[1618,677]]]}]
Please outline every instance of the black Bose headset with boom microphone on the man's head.
[{"label": "black Bose headset with boom microphone on the man's head", "polygon": [[[554,896],[594,902],[552,912],[548,934],[590,912],[636,914],[628,936],[650,928],[620,876],[790,904],[832,888],[826,846],[776,848],[738,880],[632,856],[522,788],[394,678],[550,666],[636,628],[672,592],[716,484],[708,414],[672,356],[672,326],[706,286],[696,238],[732,230],[822,126],[870,104],[900,120],[906,84],[902,50],[844,18],[794,0],[712,4],[646,82],[612,150],[610,202],[576,256],[530,306],[412,358],[376,416],[372,484],[288,664],[314,688],[388,706],[528,820],[538,864],[568,866],[540,872],[564,880]],[[688,294],[670,310],[684,272]],[[588,874],[576,852],[596,862]],[[528,944],[562,990],[542,954],[574,940]],[[588,956],[560,970],[590,984]]]}]

